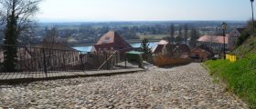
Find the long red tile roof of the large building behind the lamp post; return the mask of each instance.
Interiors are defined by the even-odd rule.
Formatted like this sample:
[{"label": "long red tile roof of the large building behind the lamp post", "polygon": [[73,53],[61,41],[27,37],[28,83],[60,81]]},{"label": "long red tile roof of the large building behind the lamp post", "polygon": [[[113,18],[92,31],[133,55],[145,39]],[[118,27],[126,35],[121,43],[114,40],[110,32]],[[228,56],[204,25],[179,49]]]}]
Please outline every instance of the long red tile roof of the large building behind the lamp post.
[{"label": "long red tile roof of the large building behind the lamp post", "polygon": [[[199,42],[212,42],[217,44],[224,44],[223,36],[221,35],[204,35],[197,39]],[[225,36],[225,44],[229,42],[229,35]]]}]

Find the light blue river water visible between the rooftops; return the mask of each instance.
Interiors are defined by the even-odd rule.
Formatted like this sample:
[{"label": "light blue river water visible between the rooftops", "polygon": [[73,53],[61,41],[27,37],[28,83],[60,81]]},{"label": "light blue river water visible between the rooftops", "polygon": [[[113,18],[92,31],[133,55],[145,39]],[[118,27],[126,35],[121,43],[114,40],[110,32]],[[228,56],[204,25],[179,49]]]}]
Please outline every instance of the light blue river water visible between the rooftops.
[{"label": "light blue river water visible between the rooftops", "polygon": [[[154,49],[157,46],[157,43],[158,42],[150,42],[149,47]],[[130,45],[132,45],[133,47],[136,48],[136,47],[140,47],[141,43],[131,43]],[[72,48],[79,50],[79,51],[83,51],[83,52],[91,52],[92,45],[74,46]]]}]

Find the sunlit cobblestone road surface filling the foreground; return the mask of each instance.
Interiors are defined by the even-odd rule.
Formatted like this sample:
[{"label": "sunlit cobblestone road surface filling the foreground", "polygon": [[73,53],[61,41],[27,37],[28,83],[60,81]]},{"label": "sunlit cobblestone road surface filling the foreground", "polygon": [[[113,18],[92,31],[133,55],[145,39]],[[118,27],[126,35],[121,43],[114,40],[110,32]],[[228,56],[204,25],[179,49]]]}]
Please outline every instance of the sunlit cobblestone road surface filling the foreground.
[{"label": "sunlit cobblestone road surface filling the foreground", "polygon": [[146,72],[1,85],[2,108],[243,108],[200,64]]}]

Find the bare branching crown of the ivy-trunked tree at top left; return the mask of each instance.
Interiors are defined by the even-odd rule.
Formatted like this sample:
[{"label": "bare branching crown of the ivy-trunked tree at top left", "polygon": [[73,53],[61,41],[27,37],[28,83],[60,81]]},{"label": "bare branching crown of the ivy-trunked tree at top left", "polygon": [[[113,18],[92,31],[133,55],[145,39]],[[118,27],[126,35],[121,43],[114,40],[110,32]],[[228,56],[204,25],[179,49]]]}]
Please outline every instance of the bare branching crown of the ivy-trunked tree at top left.
[{"label": "bare branching crown of the ivy-trunked tree at top left", "polygon": [[34,15],[42,0],[0,0],[2,22],[7,25],[7,19],[16,17],[17,31],[22,32],[35,25]]}]

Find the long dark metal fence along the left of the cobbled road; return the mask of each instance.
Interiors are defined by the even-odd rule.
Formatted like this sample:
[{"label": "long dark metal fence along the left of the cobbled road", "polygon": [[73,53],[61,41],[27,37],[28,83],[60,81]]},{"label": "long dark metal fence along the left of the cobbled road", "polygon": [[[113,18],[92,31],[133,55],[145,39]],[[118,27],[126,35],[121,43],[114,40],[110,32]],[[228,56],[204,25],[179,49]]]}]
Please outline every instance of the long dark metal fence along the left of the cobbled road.
[{"label": "long dark metal fence along the left of the cobbled road", "polygon": [[[6,56],[6,49],[13,57]],[[15,52],[14,52],[15,51]],[[7,67],[8,58],[14,67]],[[122,64],[125,63],[125,64]],[[0,74],[45,74],[111,70],[126,67],[126,56],[119,52],[88,53],[71,48],[52,49],[31,46],[0,45]],[[1,76],[0,76],[1,79]]]}]

